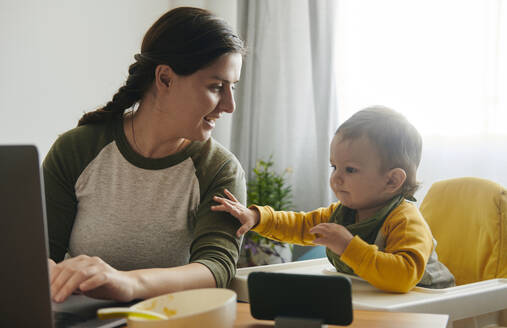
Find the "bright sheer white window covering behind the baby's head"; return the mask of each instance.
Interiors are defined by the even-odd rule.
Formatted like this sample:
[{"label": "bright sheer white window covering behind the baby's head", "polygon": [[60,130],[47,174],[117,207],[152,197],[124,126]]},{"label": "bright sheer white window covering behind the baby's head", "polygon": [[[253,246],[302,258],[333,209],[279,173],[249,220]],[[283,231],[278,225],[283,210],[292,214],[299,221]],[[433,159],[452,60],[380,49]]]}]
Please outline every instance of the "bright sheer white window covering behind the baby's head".
[{"label": "bright sheer white window covering behind the baby's head", "polygon": [[423,136],[421,201],[437,180],[507,186],[507,2],[354,0],[337,12],[339,121],[380,104]]}]

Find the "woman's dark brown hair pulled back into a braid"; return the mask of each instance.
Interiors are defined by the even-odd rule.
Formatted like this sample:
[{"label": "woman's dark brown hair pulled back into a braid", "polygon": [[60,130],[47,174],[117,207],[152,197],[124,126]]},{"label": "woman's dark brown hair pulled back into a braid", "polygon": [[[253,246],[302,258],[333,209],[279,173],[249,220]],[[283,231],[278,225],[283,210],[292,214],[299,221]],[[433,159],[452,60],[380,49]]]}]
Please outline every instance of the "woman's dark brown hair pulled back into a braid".
[{"label": "woman's dark brown hair pulled back into a braid", "polygon": [[227,53],[245,54],[243,41],[221,18],[207,10],[175,8],[146,32],[141,53],[129,67],[129,76],[104,107],[85,113],[78,126],[121,115],[144,96],[157,65],[169,65],[178,75],[190,75]]}]

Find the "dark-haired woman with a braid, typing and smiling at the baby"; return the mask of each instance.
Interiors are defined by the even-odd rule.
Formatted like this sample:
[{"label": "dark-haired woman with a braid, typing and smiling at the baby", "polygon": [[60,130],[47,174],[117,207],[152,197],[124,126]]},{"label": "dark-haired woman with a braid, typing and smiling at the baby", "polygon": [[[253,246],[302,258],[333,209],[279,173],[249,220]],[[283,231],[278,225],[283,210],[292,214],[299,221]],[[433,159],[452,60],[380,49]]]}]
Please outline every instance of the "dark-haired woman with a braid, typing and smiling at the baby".
[{"label": "dark-haired woman with a braid, typing and smiling at the baby", "polygon": [[244,172],[210,134],[234,111],[243,54],[223,20],[173,9],[112,101],[54,143],[43,163],[54,301],[130,301],[234,277],[239,226],[210,205],[224,188],[244,201]]}]

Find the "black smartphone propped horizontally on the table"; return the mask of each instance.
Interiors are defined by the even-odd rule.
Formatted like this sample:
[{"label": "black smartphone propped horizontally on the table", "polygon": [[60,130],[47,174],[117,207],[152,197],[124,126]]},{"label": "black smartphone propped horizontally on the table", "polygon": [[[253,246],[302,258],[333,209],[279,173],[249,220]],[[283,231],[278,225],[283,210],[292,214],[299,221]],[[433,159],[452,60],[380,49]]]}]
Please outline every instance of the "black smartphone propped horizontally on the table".
[{"label": "black smartphone propped horizontally on the table", "polygon": [[344,276],[252,272],[248,294],[250,312],[256,319],[292,317],[332,325],[352,323],[351,284]]}]

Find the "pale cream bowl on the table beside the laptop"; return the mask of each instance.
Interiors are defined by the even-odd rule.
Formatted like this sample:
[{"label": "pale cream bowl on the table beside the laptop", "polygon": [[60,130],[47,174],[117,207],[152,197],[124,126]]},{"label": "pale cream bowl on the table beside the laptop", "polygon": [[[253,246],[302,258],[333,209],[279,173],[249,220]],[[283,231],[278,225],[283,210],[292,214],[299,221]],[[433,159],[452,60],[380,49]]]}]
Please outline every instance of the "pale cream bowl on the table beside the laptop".
[{"label": "pale cream bowl on the table beside the laptop", "polygon": [[169,319],[129,317],[129,328],[232,328],[236,320],[236,293],[221,288],[191,289],[153,297],[132,308],[162,313]]}]

